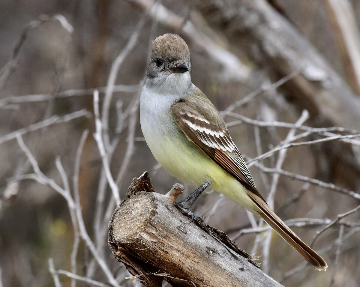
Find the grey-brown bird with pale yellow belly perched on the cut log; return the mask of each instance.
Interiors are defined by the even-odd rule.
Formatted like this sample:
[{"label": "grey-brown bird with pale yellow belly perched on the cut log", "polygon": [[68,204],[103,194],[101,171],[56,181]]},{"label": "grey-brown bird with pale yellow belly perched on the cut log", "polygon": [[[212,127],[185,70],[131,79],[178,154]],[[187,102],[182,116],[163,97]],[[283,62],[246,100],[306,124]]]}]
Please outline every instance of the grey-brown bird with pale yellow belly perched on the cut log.
[{"label": "grey-brown bird with pale yellow belly perched on the cut log", "polygon": [[178,35],[153,41],[140,97],[140,122],[154,157],[173,176],[207,186],[260,215],[315,269],[326,262],[266,204],[219,112],[191,82],[190,53]]}]

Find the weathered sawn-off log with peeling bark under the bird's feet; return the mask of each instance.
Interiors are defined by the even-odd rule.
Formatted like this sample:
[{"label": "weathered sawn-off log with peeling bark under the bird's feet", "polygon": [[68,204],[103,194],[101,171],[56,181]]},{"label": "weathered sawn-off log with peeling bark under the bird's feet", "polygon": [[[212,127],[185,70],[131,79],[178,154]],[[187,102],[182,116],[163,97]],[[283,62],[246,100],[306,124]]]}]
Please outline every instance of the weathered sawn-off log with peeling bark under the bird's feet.
[{"label": "weathered sawn-off log with peeling bark under the bird's feet", "polygon": [[135,178],[129,198],[109,223],[109,246],[145,286],[282,286],[222,232],[203,226],[174,205],[178,183],[166,195],[153,191],[148,173]]}]

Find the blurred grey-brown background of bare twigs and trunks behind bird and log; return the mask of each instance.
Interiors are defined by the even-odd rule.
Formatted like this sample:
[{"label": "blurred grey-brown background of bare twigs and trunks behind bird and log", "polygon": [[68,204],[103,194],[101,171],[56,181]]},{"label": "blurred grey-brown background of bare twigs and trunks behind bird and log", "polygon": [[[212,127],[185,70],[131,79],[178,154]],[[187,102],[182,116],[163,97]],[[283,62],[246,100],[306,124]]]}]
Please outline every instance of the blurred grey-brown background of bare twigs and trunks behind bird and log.
[{"label": "blurred grey-brown background of bare twigs and trunks behind bird and log", "polygon": [[[202,195],[194,214],[285,286],[359,286],[360,2],[333,2],[1,0],[0,286],[141,286],[107,246],[116,204],[93,93],[120,199],[145,170],[157,192],[170,190],[177,180],[138,120],[151,41],[168,32],[188,43],[193,83],[222,111],[279,217],[309,244],[334,223],[313,245],[328,271],[219,193]],[[289,142],[307,144],[251,162]]]}]

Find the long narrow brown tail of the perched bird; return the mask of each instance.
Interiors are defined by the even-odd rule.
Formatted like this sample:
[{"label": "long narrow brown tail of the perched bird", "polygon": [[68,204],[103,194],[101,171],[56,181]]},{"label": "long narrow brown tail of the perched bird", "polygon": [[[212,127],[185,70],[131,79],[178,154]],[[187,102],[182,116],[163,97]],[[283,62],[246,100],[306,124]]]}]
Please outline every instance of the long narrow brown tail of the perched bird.
[{"label": "long narrow brown tail of the perched bird", "polygon": [[248,192],[248,196],[256,204],[260,211],[257,213],[269,224],[274,230],[283,237],[294,249],[297,250],[306,261],[316,270],[326,270],[328,264],[314,250],[306,245],[289,227],[274,213],[264,200],[253,192]]}]

